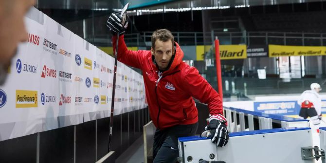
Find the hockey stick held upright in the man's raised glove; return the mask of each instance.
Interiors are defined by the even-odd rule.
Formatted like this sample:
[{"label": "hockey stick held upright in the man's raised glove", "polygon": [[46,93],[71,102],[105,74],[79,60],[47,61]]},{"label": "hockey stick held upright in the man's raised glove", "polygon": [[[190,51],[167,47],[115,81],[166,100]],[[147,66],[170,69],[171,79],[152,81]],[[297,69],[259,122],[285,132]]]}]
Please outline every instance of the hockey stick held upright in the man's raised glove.
[{"label": "hockey stick held upright in the man's raised glove", "polygon": [[[121,11],[121,21],[122,21],[122,16],[128,9],[130,3],[127,3],[125,7]],[[127,20],[126,20],[127,21]],[[114,53],[114,73],[113,73],[113,88],[112,88],[112,100],[111,100],[111,116],[110,116],[110,133],[109,133],[109,149],[108,151],[111,151],[111,140],[112,140],[112,127],[113,127],[113,111],[114,111],[114,95],[115,95],[115,81],[117,77],[117,62],[118,62],[118,43],[119,43],[119,32],[117,33],[117,42],[115,44],[115,53]],[[109,153],[108,152],[108,153]]]}]

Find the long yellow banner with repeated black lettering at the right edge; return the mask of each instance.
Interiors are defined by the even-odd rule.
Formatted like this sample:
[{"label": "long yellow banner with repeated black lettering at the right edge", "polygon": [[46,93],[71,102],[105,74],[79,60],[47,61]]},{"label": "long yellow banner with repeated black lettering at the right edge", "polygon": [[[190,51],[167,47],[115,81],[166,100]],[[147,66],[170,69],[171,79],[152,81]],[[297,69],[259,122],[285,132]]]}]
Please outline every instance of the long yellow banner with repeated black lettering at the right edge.
[{"label": "long yellow banner with repeated black lettering at the right edge", "polygon": [[269,45],[269,56],[315,56],[326,55],[325,46],[286,46],[286,45]]}]

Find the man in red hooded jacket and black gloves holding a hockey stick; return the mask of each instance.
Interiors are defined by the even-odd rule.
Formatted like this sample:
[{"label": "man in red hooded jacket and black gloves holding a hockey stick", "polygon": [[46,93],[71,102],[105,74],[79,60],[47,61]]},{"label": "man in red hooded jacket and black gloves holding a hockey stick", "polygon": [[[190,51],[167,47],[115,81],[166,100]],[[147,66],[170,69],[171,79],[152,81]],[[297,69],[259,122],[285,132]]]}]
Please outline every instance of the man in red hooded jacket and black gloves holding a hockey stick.
[{"label": "man in red hooded jacket and black gloves holding a hockey stick", "polygon": [[198,128],[198,111],[193,97],[208,104],[211,139],[217,146],[227,144],[227,121],[223,116],[218,93],[199,75],[196,68],[182,62],[183,52],[170,31],[160,29],[152,35],[150,51],[127,50],[124,41],[128,16],[120,12],[110,15],[107,26],[113,37],[113,51],[117,33],[118,60],[143,71],[146,99],[150,117],[157,128],[154,135],[154,163],[175,163],[179,155],[178,138],[194,136]]}]

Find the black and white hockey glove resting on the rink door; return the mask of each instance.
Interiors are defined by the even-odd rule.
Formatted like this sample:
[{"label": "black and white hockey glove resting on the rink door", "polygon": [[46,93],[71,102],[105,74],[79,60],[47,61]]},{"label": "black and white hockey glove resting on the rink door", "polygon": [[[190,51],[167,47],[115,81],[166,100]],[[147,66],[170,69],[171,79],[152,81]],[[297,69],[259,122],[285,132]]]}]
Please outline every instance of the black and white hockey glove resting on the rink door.
[{"label": "black and white hockey glove resting on the rink door", "polygon": [[229,141],[229,131],[226,129],[227,124],[223,115],[213,115],[209,119],[209,124],[205,127],[201,136],[209,137],[217,146],[225,146]]}]

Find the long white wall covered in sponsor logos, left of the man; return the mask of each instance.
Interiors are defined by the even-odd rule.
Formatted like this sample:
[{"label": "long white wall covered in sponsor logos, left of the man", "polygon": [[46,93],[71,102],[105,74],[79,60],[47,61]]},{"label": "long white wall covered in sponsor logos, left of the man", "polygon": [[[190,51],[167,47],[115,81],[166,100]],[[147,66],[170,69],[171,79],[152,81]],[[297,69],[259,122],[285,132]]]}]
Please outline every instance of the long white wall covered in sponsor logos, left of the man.
[{"label": "long white wall covered in sponsor logos, left of the man", "polygon": [[[0,86],[0,125],[24,125],[0,130],[8,135],[0,141],[83,123],[90,112],[109,111],[111,105],[114,58],[37,14],[25,18],[26,42],[19,45]],[[121,62],[117,66],[114,115],[145,108],[142,75]]]}]

